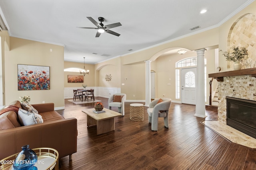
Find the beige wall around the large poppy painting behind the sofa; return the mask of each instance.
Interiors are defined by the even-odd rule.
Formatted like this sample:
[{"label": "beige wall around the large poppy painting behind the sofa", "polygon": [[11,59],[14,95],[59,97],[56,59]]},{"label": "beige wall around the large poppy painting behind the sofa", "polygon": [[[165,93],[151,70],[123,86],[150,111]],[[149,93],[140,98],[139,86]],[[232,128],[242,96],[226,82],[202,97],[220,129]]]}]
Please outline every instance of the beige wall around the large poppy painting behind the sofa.
[{"label": "beige wall around the large poppy painting behind the sofa", "polygon": [[[52,52],[50,52],[52,49]],[[50,66],[50,90],[19,90],[17,64]],[[10,50],[4,52],[5,104],[30,96],[30,104],[53,102],[64,107],[64,48],[59,45],[40,43],[10,37]]]}]

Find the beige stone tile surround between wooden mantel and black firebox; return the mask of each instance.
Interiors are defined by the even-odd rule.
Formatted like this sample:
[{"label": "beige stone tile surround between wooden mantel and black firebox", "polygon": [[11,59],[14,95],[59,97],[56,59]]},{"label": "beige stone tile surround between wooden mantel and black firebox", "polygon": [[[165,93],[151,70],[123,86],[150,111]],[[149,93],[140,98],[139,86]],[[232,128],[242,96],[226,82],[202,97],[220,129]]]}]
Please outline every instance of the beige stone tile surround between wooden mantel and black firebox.
[{"label": "beige stone tile surround between wooden mantel and black firebox", "polygon": [[224,124],[227,122],[226,96],[256,101],[256,78],[250,75],[228,76],[223,82],[218,82],[218,121]]}]

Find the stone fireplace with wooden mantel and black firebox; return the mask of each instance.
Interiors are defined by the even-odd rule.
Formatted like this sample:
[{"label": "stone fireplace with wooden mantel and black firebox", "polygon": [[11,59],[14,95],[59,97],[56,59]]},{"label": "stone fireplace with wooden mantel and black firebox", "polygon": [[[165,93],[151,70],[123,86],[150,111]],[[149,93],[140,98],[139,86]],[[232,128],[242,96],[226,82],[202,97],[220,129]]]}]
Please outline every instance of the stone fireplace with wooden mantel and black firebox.
[{"label": "stone fireplace with wooden mantel and black firebox", "polygon": [[[256,78],[254,76],[256,76],[256,68],[209,74],[209,77],[218,80],[218,121],[220,123],[227,124],[227,98],[237,98],[239,102],[250,100],[250,103],[256,107]],[[237,130],[241,131],[241,128]]]}]

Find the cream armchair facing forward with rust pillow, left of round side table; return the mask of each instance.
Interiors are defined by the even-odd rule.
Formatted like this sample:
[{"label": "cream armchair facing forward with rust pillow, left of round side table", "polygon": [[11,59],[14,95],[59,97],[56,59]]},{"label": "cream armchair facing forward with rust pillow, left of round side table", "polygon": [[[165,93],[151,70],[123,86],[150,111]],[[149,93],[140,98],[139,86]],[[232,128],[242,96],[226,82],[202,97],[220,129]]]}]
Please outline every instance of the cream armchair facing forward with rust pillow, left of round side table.
[{"label": "cream armchair facing forward with rust pillow, left of round side table", "polygon": [[124,116],[124,101],[126,100],[126,94],[116,93],[112,94],[108,99],[108,109],[111,107],[118,107],[118,112]]}]

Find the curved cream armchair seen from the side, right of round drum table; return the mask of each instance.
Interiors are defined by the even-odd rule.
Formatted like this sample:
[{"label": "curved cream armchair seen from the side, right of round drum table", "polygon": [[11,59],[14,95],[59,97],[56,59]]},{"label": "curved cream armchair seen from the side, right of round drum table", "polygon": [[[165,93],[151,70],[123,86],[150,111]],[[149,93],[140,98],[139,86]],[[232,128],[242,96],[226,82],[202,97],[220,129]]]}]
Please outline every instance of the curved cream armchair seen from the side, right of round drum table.
[{"label": "curved cream armchair seen from the side, right of round drum table", "polygon": [[169,128],[168,112],[172,104],[169,98],[155,99],[150,102],[148,111],[148,121],[151,123],[151,130],[158,130],[158,117],[164,117],[164,126]]}]

